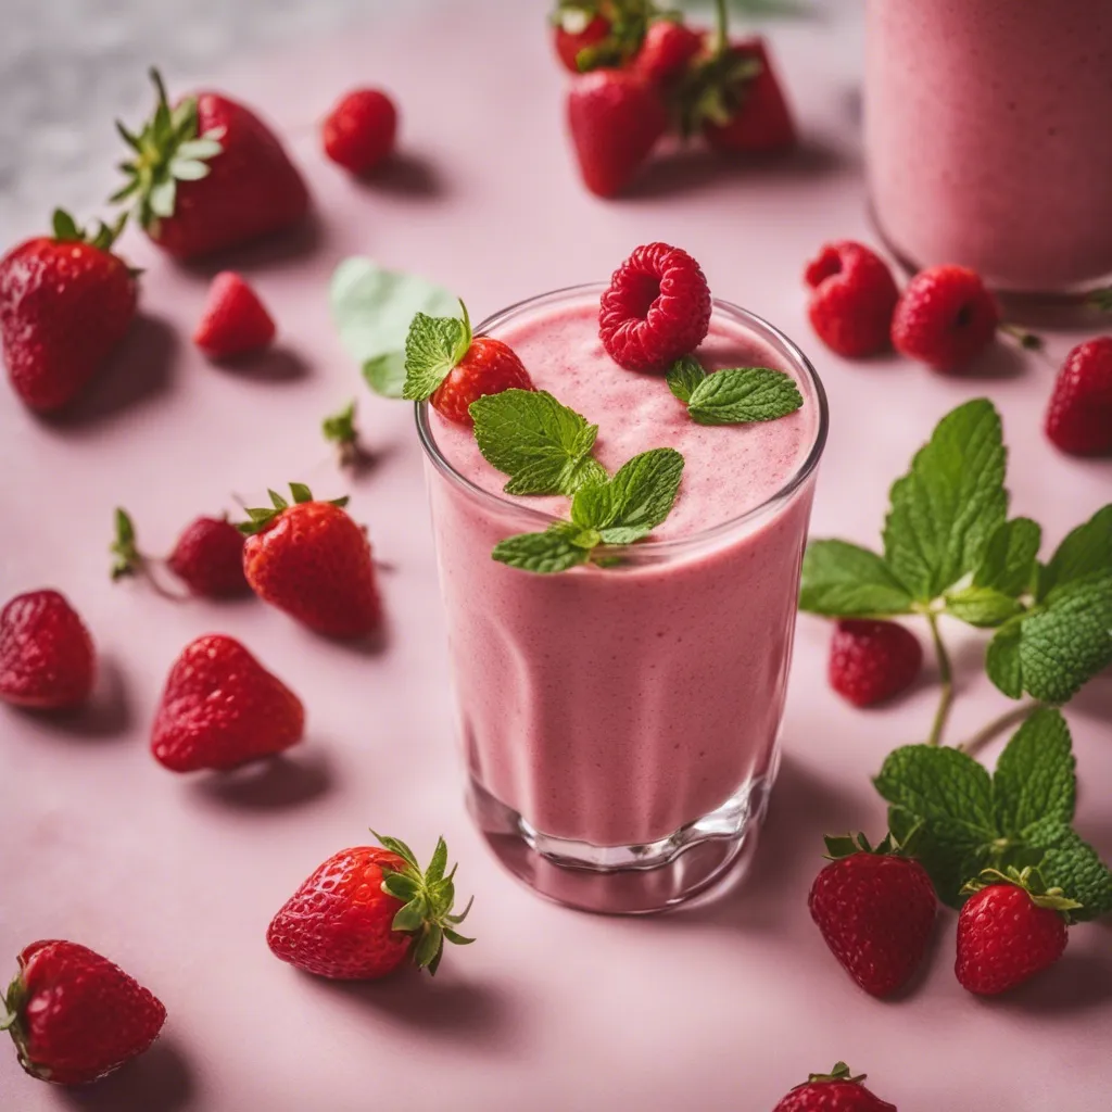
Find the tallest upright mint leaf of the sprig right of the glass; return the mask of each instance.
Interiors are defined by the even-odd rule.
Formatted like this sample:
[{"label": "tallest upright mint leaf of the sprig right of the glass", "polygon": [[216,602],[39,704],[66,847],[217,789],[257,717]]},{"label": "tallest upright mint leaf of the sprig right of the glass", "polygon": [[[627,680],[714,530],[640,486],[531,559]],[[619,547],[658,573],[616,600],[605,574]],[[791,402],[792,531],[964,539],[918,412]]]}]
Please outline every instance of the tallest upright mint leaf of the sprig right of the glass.
[{"label": "tallest upright mint leaf of the sprig right of the glass", "polygon": [[884,556],[919,602],[931,602],[980,566],[1007,513],[1000,415],[977,398],[939,423],[911,470],[892,487]]}]

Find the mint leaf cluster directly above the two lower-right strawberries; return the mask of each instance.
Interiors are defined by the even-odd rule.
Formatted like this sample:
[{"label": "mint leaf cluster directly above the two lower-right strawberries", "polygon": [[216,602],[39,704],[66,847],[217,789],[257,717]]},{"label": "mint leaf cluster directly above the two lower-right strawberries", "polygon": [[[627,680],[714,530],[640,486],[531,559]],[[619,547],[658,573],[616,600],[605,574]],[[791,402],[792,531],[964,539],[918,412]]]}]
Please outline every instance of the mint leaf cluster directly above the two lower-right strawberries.
[{"label": "mint leaf cluster directly above the two lower-right strawberries", "polygon": [[984,868],[1037,867],[1081,904],[1073,921],[1112,911],[1112,872],[1072,828],[1076,774],[1070,731],[1056,709],[1031,715],[1009,742],[995,775],[954,748],[906,745],[875,780],[896,838],[914,832],[915,855],[939,896],[961,906]]}]

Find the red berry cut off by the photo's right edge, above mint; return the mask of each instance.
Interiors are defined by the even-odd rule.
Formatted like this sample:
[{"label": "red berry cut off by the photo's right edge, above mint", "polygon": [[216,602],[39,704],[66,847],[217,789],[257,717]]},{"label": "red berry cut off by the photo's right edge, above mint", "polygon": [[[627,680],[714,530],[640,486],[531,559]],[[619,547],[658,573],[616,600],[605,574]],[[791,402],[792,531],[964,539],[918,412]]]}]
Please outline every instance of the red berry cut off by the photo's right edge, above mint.
[{"label": "red berry cut off by the photo's right edge, above mint", "polygon": [[1112,336],[1066,357],[1046,410],[1046,435],[1071,456],[1112,453]]}]

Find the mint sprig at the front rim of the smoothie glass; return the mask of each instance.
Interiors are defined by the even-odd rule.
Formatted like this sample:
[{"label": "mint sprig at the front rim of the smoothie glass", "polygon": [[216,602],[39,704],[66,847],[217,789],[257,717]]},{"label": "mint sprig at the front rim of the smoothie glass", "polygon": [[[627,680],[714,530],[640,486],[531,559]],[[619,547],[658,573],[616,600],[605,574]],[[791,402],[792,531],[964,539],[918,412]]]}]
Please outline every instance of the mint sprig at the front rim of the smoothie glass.
[{"label": "mint sprig at the front rim of the smoothie glass", "polygon": [[642,540],[672,513],[683,470],[684,457],[674,448],[643,451],[614,478],[580,486],[572,499],[570,522],[509,537],[492,555],[510,567],[548,575],[589,563],[599,545]]}]

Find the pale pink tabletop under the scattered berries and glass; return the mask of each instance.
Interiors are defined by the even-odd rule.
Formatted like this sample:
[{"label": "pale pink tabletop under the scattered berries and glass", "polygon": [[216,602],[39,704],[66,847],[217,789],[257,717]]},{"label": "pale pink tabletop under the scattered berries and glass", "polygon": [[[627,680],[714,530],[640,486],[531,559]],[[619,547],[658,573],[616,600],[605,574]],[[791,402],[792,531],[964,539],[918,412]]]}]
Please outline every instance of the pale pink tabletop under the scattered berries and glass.
[{"label": "pale pink tabletop under the scattered berries and glass", "polygon": [[[453,10],[457,6],[450,6]],[[463,7],[463,6],[459,6]],[[289,64],[240,71],[230,92],[287,132],[319,210],[311,244],[237,260],[280,322],[281,355],[256,373],[209,366],[189,346],[206,274],[136,238],[149,318],[121,365],[69,421],[38,423],[4,395],[0,464],[4,596],[52,584],[89,622],[106,667],[98,708],[61,725],[0,708],[0,954],[66,935],[125,964],[170,1019],[145,1060],[86,1094],[23,1076],[0,1058],[8,1112],[364,1112],[629,1108],[762,1112],[808,1070],[846,1059],[876,1092],[916,1109],[1046,1112],[1108,1108],[1112,934],[1074,930],[1050,975],[1006,1000],[963,992],[950,971],[954,917],[911,999],[860,993],[827,954],[805,897],[824,831],[878,833],[867,776],[925,733],[933,689],[853,711],[824,683],[827,629],[800,624],[781,781],[754,870],[707,906],[645,921],[560,910],[516,885],[481,848],[461,775],[420,451],[406,406],[369,398],[335,339],[334,264],[364,251],[439,278],[476,317],[522,295],[605,276],[639,241],[671,240],[713,288],[805,341],[832,399],[817,535],[874,543],[891,479],[937,418],[989,391],[1012,446],[1013,510],[1048,544],[1108,500],[1112,466],[1058,455],[1039,431],[1052,370],[1001,348],[995,377],[941,379],[895,359],[851,366],[810,342],[800,274],[826,238],[867,238],[850,106],[860,59],[825,23],[785,26],[776,46],[808,149],[793,163],[717,173],[665,165],[622,203],[586,196],[559,137],[562,77],[544,3],[467,7],[433,24],[384,21]],[[513,50],[492,53],[490,20]],[[481,17],[481,18],[480,18]],[[314,118],[356,81],[394,88],[407,157],[359,186],[317,153]],[[140,79],[137,76],[137,96]],[[675,191],[679,185],[685,191]],[[265,258],[269,255],[269,261]],[[1061,357],[1072,337],[1055,336]],[[384,572],[380,652],[319,641],[261,604],[175,606],[107,580],[111,509],[127,505],[151,549],[169,548],[229,492],[258,497],[302,479],[349,487],[317,421],[358,393],[379,464],[350,484]],[[229,780],[177,778],[147,752],[171,661],[192,637],[241,637],[308,708],[288,761]],[[959,661],[955,736],[1005,705],[977,674],[980,638],[947,629]],[[1081,833],[1112,854],[1112,679],[1069,712],[1083,786]],[[368,824],[423,853],[439,832],[477,900],[479,942],[435,982],[328,984],[278,963],[266,925],[328,854]],[[12,963],[13,964],[13,963]],[[395,1095],[384,1096],[389,1086]]]}]

